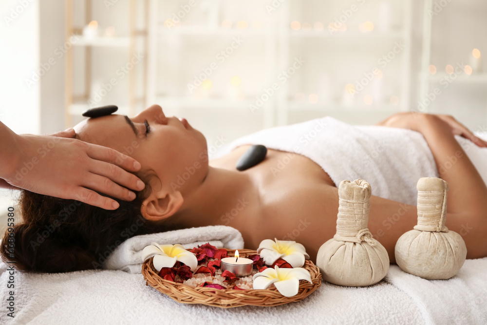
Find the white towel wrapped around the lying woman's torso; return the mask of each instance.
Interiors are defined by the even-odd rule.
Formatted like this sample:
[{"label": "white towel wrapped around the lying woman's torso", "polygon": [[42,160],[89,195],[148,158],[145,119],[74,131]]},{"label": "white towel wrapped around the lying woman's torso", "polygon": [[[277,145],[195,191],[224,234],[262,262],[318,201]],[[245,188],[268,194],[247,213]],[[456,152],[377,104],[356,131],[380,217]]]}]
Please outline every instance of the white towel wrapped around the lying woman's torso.
[{"label": "white towel wrapped around the lying woman's torso", "polygon": [[[476,134],[487,138],[485,133]],[[487,184],[487,148],[479,148],[460,136],[455,138]],[[383,126],[355,126],[330,116],[249,134],[233,141],[227,150],[245,144],[300,153],[327,172],[337,187],[344,179],[361,178],[371,185],[372,195],[411,205],[417,202],[419,178],[439,176],[423,134]]]}]

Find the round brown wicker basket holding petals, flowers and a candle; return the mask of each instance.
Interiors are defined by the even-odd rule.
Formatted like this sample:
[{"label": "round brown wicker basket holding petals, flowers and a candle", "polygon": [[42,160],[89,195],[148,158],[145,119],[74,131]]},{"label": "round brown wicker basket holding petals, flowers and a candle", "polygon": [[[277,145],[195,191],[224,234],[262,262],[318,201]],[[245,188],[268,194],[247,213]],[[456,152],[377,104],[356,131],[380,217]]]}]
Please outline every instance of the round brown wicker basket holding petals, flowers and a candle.
[{"label": "round brown wicker basket holding petals, flowers and a candle", "polygon": [[[234,256],[234,249],[227,249],[228,256]],[[257,254],[255,250],[239,249],[240,256]],[[321,285],[321,273],[313,262],[306,260],[303,268],[307,269],[311,275],[310,284],[308,281],[300,281],[298,294],[293,297],[284,297],[272,286],[265,290],[234,290],[234,289],[215,289],[211,287],[191,287],[182,283],[175,283],[165,280],[158,275],[152,265],[152,258],[142,265],[142,274],[147,281],[146,286],[151,286],[156,290],[167,294],[179,303],[184,304],[203,304],[221,308],[232,308],[239,306],[278,306],[295,301],[300,301],[310,295]]]}]

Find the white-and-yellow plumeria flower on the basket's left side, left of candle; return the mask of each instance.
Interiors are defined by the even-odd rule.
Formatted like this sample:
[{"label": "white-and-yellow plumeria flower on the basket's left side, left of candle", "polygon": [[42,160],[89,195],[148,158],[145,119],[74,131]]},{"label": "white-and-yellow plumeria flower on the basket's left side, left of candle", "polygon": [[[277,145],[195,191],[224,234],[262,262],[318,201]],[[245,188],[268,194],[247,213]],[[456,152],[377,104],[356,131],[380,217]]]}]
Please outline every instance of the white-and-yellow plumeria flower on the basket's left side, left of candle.
[{"label": "white-and-yellow plumeria flower on the basket's left side, left of candle", "polygon": [[196,255],[187,251],[182,245],[159,245],[152,243],[142,249],[142,261],[154,256],[152,263],[159,272],[161,268],[172,268],[176,261],[187,265],[191,271],[195,271],[198,266]]}]

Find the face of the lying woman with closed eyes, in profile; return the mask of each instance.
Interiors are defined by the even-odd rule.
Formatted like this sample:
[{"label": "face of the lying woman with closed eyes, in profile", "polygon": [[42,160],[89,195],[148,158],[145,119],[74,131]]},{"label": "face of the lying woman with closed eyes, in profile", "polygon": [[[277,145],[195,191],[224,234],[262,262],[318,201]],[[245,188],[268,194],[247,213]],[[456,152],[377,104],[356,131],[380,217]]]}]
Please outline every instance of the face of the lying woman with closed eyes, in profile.
[{"label": "face of the lying woman with closed eyes, in profile", "polygon": [[[182,193],[201,184],[208,171],[205,136],[185,119],[166,117],[159,105],[130,119],[125,115],[88,118],[75,126],[75,132],[82,141],[133,157],[142,172],[154,171],[160,184]],[[157,187],[152,182],[151,186]]]}]

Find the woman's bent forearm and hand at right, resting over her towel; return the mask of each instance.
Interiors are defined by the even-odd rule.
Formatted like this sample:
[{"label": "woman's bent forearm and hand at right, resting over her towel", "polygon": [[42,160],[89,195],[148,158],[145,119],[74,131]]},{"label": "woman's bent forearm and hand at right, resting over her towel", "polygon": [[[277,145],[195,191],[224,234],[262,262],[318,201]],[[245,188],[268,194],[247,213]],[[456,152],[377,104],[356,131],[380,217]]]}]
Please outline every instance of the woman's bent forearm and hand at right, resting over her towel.
[{"label": "woman's bent forearm and hand at right, resting over her towel", "polygon": [[[458,232],[465,240],[467,258],[487,256],[487,187],[454,135],[462,135],[478,147],[487,147],[487,142],[476,137],[448,115],[399,113],[378,125],[410,129],[423,134],[433,154],[440,178],[449,185],[446,226]],[[382,205],[383,200],[376,198],[377,205]],[[391,208],[389,212],[378,213],[382,218],[390,218],[388,213],[397,209],[397,204],[392,204]],[[416,210],[415,207],[411,208]],[[401,221],[393,225],[391,230],[397,231],[393,237],[401,232],[400,229],[405,228],[406,225],[397,227]]]}]

